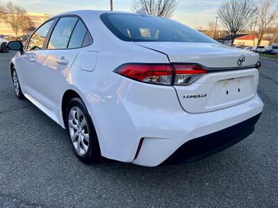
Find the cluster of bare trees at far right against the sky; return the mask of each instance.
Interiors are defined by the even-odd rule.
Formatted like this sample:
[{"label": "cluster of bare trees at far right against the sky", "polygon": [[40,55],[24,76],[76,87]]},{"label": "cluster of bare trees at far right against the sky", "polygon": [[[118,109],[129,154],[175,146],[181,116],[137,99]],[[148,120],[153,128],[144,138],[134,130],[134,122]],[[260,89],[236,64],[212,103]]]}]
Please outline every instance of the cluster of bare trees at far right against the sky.
[{"label": "cluster of bare trees at far right against the sky", "polygon": [[247,30],[258,35],[260,45],[265,30],[275,24],[278,26],[278,6],[273,0],[224,1],[218,8],[218,16],[231,35],[231,45],[236,35]]}]

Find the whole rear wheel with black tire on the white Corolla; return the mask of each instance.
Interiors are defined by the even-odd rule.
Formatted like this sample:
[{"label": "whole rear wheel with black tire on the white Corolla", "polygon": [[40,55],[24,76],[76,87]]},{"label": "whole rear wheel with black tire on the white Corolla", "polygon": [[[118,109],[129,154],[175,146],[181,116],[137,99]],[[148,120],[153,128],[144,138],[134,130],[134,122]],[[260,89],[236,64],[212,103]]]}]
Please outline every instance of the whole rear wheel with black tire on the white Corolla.
[{"label": "whole rear wheel with black tire on the white Corolla", "polygon": [[101,154],[97,132],[81,98],[72,98],[70,101],[65,123],[76,157],[86,164],[98,162]]}]

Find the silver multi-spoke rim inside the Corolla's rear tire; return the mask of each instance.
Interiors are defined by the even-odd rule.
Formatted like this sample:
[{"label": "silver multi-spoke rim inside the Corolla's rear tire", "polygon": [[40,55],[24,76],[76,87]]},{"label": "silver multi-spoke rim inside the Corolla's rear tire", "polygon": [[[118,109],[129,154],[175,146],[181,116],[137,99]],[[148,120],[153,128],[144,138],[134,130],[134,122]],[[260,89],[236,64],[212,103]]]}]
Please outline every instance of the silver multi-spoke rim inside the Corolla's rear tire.
[{"label": "silver multi-spoke rim inside the Corolla's rear tire", "polygon": [[72,107],[70,110],[68,124],[70,138],[76,153],[78,155],[85,155],[88,152],[90,135],[88,122],[79,107]]}]

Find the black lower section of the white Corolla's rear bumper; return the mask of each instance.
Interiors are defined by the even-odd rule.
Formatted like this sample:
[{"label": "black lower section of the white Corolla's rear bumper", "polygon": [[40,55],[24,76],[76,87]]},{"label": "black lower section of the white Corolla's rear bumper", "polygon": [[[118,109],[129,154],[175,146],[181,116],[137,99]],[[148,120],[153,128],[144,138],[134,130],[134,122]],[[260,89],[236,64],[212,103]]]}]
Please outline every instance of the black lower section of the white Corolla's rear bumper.
[{"label": "black lower section of the white Corolla's rear bumper", "polygon": [[194,162],[233,146],[254,132],[254,126],[260,116],[261,114],[257,114],[229,128],[187,141],[165,161],[165,164]]}]

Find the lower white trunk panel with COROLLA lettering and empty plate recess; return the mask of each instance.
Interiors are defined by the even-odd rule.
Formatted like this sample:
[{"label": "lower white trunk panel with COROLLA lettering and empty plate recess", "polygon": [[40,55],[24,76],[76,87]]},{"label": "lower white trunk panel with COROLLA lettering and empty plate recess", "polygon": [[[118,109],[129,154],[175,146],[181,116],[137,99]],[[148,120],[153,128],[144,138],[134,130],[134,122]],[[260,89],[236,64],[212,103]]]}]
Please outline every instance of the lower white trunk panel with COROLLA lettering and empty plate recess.
[{"label": "lower white trunk panel with COROLLA lettering and empty plate recess", "polygon": [[[256,96],[259,84],[257,69],[208,73],[189,86],[174,86],[184,110],[209,112],[231,107]],[[184,98],[190,94],[206,94],[202,98]]]}]

